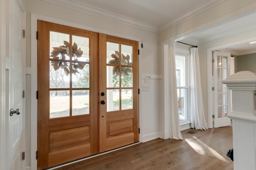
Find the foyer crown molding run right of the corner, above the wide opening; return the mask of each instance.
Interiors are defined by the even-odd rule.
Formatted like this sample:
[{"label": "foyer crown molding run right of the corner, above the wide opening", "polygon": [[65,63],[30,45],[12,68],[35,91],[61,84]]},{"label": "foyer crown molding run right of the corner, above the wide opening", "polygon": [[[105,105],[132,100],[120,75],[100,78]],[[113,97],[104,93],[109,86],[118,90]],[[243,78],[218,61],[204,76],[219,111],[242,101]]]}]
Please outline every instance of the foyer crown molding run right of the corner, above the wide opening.
[{"label": "foyer crown molding run right of the corner, above the wide opening", "polygon": [[184,14],[180,15],[170,23],[166,23],[165,25],[162,25],[158,29],[158,33],[161,33],[163,31],[166,31],[167,29],[188,20],[189,18],[200,14],[201,12],[204,12],[205,10],[208,10],[209,8],[212,8],[213,6],[216,6],[217,4],[220,4],[225,0],[207,0],[199,4],[198,6],[192,8],[191,10],[185,12]]}]

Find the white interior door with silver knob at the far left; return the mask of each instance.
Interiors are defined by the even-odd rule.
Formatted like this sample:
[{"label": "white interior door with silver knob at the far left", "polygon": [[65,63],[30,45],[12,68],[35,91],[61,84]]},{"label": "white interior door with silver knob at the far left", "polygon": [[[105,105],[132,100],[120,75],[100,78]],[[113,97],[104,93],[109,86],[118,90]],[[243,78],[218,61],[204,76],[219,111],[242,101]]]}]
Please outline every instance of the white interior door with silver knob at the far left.
[{"label": "white interior door with silver knob at the far left", "polygon": [[[24,110],[23,110],[23,67],[24,53],[22,30],[24,27],[23,12],[17,0],[10,0],[9,13],[9,66],[6,70],[6,87],[8,89],[9,112],[6,115],[8,127],[6,128],[6,160],[7,170],[24,170],[22,152],[24,151]],[[8,93],[9,92],[9,93]],[[13,109],[12,112],[10,110]],[[19,110],[20,109],[20,110]]]}]

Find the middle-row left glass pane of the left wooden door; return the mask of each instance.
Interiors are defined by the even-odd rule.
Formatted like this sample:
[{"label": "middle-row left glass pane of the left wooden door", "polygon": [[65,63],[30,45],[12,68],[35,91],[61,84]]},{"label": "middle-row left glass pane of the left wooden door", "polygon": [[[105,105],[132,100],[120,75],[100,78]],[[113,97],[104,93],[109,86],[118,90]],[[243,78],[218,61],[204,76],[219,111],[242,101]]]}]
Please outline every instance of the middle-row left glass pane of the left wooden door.
[{"label": "middle-row left glass pane of the left wooden door", "polygon": [[56,69],[56,63],[59,65],[60,62],[50,61],[50,88],[69,88],[70,78],[66,71],[69,70],[69,67],[61,64],[61,66],[58,66]]}]

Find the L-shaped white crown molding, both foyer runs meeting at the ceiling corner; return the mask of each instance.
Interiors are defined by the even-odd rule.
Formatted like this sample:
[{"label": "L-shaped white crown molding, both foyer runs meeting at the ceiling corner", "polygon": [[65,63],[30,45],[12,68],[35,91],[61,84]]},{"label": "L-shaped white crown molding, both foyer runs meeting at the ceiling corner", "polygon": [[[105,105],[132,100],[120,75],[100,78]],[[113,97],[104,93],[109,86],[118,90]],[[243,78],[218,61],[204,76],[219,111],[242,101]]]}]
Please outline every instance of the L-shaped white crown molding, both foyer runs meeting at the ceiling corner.
[{"label": "L-shaped white crown molding, both foyer runs meeting at the ceiling corner", "polygon": [[77,0],[42,0],[45,2],[49,2],[52,4],[56,4],[59,6],[64,6],[66,8],[70,8],[72,10],[77,10],[80,12],[84,12],[86,14],[90,14],[93,16],[97,16],[100,18],[104,18],[111,21],[116,21],[119,23],[123,23],[126,25],[130,25],[133,27],[137,27],[140,29],[144,29],[146,31],[151,31],[154,33],[161,33],[163,31],[166,31],[167,29],[173,27],[174,25],[177,25],[185,20],[188,20],[189,18],[204,12],[205,10],[208,10],[209,8],[223,2],[224,0],[206,0],[203,3],[199,4],[195,8],[192,8],[190,11],[187,11],[186,13],[180,15],[175,20],[171,21],[170,23],[167,23],[163,26],[156,26],[149,23],[145,23],[142,21],[134,20],[132,18],[128,18],[126,16],[122,16],[119,14],[116,14],[114,12],[106,11],[101,8],[97,8],[95,6],[91,6],[82,2],[79,2]]}]

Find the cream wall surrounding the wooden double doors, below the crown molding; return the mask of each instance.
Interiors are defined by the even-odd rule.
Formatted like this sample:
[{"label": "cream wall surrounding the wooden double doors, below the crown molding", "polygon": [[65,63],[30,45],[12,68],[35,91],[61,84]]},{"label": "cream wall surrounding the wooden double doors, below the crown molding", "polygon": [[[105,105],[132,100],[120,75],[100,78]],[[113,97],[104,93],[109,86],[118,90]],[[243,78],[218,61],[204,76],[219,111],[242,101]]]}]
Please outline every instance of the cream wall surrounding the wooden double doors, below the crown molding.
[{"label": "cream wall surrounding the wooden double doors, below the crown molding", "polygon": [[[142,86],[140,84],[140,131],[141,139],[140,141],[148,141],[150,139],[155,139],[159,137],[159,110],[160,110],[160,57],[158,55],[158,34],[152,33],[150,31],[145,31],[143,29],[138,29],[129,25],[124,25],[122,23],[117,23],[114,21],[98,18],[83,12],[78,12],[71,10],[69,8],[64,8],[62,6],[57,6],[42,0],[26,0],[26,11],[27,11],[27,57],[26,57],[26,67],[27,70],[31,69],[31,57],[36,58],[36,56],[30,56],[30,36],[36,32],[31,32],[30,30],[30,14],[39,14],[42,16],[57,18],[59,20],[69,21],[76,23],[78,25],[84,25],[88,27],[90,31],[96,31],[99,33],[106,33],[109,35],[114,35],[118,37],[130,38],[130,39],[140,39],[143,41],[143,48],[140,48],[140,70],[141,70],[141,81],[144,82],[142,75],[146,74],[150,76],[150,91],[142,91]],[[139,45],[140,46],[140,45]],[[30,73],[27,73],[27,84],[30,84]],[[33,85],[32,85],[33,86]],[[33,92],[31,92],[33,93]],[[30,103],[30,98],[26,98],[26,103]],[[26,107],[30,107],[29,104]],[[27,110],[27,120],[26,123],[30,123],[30,110]],[[36,114],[36,113],[33,113]],[[31,120],[33,121],[33,120]],[[30,127],[26,127],[26,141],[30,141]],[[27,149],[29,153],[29,149]],[[30,156],[30,155],[29,155]],[[33,160],[33,159],[32,159]],[[26,161],[26,166],[29,166],[29,161]]]}]

